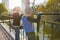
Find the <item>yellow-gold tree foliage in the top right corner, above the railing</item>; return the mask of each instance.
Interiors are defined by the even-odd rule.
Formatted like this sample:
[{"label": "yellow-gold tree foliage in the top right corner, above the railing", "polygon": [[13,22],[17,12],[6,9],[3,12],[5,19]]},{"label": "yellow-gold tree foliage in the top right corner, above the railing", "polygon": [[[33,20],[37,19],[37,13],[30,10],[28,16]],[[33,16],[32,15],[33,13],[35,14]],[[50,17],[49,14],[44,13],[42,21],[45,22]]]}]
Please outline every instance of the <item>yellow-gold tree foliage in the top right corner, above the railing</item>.
[{"label": "yellow-gold tree foliage in the top right corner, above the railing", "polygon": [[48,13],[60,13],[60,0],[49,0],[46,5],[46,10],[48,10]]}]

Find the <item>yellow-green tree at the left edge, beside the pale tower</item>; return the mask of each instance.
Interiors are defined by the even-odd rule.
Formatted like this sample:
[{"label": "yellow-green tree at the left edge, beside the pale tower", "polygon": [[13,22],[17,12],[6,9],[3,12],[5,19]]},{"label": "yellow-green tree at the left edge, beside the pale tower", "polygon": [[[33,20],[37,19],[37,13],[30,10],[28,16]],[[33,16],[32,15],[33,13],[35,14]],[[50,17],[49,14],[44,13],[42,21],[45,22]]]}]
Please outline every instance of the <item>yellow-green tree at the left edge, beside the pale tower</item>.
[{"label": "yellow-green tree at the left edge, beside the pale tower", "polygon": [[5,6],[5,3],[0,3],[0,19],[7,20],[10,18],[11,18],[11,16],[10,16],[10,14],[8,14],[8,10]]}]

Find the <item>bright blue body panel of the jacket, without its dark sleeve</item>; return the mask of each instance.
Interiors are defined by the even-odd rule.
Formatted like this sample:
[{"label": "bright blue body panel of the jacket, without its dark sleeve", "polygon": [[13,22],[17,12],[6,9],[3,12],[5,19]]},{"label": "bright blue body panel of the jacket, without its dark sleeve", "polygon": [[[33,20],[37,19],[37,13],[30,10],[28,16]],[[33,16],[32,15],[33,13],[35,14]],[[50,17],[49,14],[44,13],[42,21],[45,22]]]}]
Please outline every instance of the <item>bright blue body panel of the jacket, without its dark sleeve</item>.
[{"label": "bright blue body panel of the jacket, without its dark sleeve", "polygon": [[25,32],[34,32],[34,27],[32,26],[32,22],[28,21],[27,17],[22,17],[23,28]]}]

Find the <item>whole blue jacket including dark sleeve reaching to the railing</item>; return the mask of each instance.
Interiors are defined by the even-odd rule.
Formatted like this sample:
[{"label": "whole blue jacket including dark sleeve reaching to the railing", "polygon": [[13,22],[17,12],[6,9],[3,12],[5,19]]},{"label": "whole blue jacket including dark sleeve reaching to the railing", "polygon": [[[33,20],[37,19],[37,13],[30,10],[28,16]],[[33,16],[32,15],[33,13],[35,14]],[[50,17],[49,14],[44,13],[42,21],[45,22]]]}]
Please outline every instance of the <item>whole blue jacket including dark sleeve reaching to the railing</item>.
[{"label": "whole blue jacket including dark sleeve reaching to the railing", "polygon": [[32,25],[32,22],[40,21],[41,15],[38,14],[37,17],[38,17],[37,19],[34,19],[32,17],[25,17],[25,16],[22,17],[23,28],[24,28],[25,32],[34,32],[35,31],[34,27]]}]

